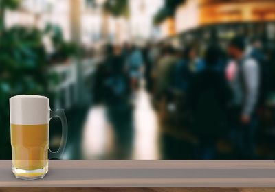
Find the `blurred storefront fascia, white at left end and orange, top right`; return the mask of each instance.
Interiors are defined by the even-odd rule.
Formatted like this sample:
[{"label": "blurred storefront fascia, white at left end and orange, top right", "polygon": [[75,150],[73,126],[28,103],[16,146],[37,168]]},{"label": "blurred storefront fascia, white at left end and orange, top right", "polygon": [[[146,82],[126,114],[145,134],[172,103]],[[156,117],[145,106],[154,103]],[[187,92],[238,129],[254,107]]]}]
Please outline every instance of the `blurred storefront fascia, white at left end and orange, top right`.
[{"label": "blurred storefront fascia, white at left end and orange, top right", "polygon": [[166,19],[159,28],[161,37],[167,38],[206,25],[271,21],[275,21],[274,1],[187,0],[178,6],[174,18]]}]

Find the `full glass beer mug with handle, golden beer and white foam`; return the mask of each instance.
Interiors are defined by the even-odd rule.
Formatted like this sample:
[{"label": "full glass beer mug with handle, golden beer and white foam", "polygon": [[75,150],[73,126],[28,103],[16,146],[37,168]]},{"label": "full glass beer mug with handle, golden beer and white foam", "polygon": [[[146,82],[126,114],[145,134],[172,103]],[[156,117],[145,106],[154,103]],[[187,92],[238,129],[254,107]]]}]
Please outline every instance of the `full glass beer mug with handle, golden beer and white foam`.
[{"label": "full glass beer mug with handle, golden beer and white foam", "polygon": [[[61,145],[56,152],[49,149],[49,123],[59,117],[62,123]],[[67,141],[67,119],[64,110],[50,110],[47,97],[17,95],[10,98],[10,137],[12,172],[17,178],[43,178],[50,158],[61,158]]]}]

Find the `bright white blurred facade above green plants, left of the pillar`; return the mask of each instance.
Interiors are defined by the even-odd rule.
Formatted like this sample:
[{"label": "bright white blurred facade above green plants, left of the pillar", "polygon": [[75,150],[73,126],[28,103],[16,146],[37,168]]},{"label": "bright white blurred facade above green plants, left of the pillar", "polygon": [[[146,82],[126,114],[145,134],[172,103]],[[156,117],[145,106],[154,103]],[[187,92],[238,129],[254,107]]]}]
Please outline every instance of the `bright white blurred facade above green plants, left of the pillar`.
[{"label": "bright white blurred facade above green plants, left of the pillar", "polygon": [[65,40],[70,40],[69,5],[66,0],[22,0],[21,8],[6,12],[5,23],[7,27],[23,25],[39,29],[51,23],[61,27]]}]

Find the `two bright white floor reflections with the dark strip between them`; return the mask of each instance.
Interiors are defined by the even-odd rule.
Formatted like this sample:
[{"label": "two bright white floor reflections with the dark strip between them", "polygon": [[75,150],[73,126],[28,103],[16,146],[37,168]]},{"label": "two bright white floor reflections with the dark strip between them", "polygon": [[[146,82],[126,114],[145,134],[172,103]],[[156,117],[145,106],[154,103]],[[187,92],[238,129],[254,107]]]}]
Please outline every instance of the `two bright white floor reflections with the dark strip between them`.
[{"label": "two bright white floor reflections with the dark strip between them", "polygon": [[158,159],[157,115],[141,89],[133,106],[95,106],[88,112],[81,145],[85,159]]}]

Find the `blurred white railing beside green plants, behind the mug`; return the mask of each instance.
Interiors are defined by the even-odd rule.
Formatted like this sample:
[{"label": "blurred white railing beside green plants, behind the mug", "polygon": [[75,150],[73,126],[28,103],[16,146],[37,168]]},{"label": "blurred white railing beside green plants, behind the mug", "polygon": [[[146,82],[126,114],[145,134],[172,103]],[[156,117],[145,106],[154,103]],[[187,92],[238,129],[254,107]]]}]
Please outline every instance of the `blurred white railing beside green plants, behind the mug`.
[{"label": "blurred white railing beside green plants, behind the mug", "polygon": [[[69,109],[77,105],[80,99],[83,101],[84,98],[89,97],[87,95],[89,93],[83,91],[83,82],[94,74],[96,65],[99,62],[100,58],[81,60],[79,69],[76,60],[50,67],[49,74],[58,77],[58,83],[49,83],[50,91],[54,93],[54,106],[52,107],[54,109]],[[83,94],[86,97],[83,97]]]}]

